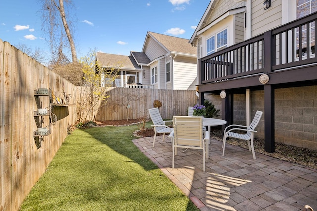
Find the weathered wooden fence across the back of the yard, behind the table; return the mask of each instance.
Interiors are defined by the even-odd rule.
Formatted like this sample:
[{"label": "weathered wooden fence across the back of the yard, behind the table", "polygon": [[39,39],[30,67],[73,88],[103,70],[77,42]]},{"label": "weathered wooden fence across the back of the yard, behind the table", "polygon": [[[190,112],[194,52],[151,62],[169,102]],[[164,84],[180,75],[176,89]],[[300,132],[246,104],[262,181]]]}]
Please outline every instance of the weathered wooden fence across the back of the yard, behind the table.
[{"label": "weathered wooden fence across the back of the yard, behind the table", "polygon": [[154,100],[162,102],[159,108],[163,119],[173,115],[187,115],[188,106],[197,103],[196,91],[139,88],[115,88],[110,90],[106,105],[96,115],[97,121],[124,120],[149,117],[148,109]]}]

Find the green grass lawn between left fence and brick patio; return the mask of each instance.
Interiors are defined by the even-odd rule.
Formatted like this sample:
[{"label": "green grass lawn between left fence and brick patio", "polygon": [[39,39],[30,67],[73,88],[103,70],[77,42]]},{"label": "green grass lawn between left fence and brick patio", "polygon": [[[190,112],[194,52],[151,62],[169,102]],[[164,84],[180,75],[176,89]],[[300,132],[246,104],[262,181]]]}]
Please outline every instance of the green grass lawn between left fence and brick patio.
[{"label": "green grass lawn between left fence and brick patio", "polygon": [[198,211],[132,143],[137,129],[108,126],[75,130],[21,210]]}]

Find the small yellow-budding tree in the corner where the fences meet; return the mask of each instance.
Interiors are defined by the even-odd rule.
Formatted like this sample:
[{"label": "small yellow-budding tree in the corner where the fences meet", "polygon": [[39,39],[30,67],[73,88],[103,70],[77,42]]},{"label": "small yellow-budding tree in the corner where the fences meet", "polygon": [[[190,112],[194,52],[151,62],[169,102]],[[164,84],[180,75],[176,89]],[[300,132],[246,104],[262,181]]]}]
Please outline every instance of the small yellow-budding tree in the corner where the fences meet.
[{"label": "small yellow-budding tree in the corner where the fences meet", "polygon": [[[107,103],[108,91],[116,79],[120,67],[102,69],[90,52],[79,61],[82,67],[83,84],[77,96],[77,118],[79,121],[95,121],[101,106]],[[101,86],[103,84],[103,86]]]}]

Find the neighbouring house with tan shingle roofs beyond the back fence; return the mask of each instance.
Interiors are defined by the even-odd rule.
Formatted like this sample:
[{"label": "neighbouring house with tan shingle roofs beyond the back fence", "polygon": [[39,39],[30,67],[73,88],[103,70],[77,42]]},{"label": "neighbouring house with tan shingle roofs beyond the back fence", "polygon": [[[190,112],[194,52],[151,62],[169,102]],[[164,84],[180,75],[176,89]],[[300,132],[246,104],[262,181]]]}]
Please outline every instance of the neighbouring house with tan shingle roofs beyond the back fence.
[{"label": "neighbouring house with tan shingle roofs beyond the back fence", "polygon": [[114,87],[196,90],[197,50],[188,39],[148,32],[142,52],[96,53],[102,68],[119,68]]}]

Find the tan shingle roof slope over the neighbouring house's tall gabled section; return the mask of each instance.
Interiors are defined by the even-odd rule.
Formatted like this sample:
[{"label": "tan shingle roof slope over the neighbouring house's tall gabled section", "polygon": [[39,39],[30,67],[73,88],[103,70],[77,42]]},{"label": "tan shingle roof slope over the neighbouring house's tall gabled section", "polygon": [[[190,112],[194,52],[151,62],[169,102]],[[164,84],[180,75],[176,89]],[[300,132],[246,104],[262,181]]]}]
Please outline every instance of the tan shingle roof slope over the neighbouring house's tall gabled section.
[{"label": "tan shingle roof slope over the neighbouring house's tall gabled section", "polygon": [[154,32],[148,32],[170,52],[179,52],[197,55],[197,47],[193,47],[188,43],[189,39],[178,38],[169,35],[163,35]]}]

